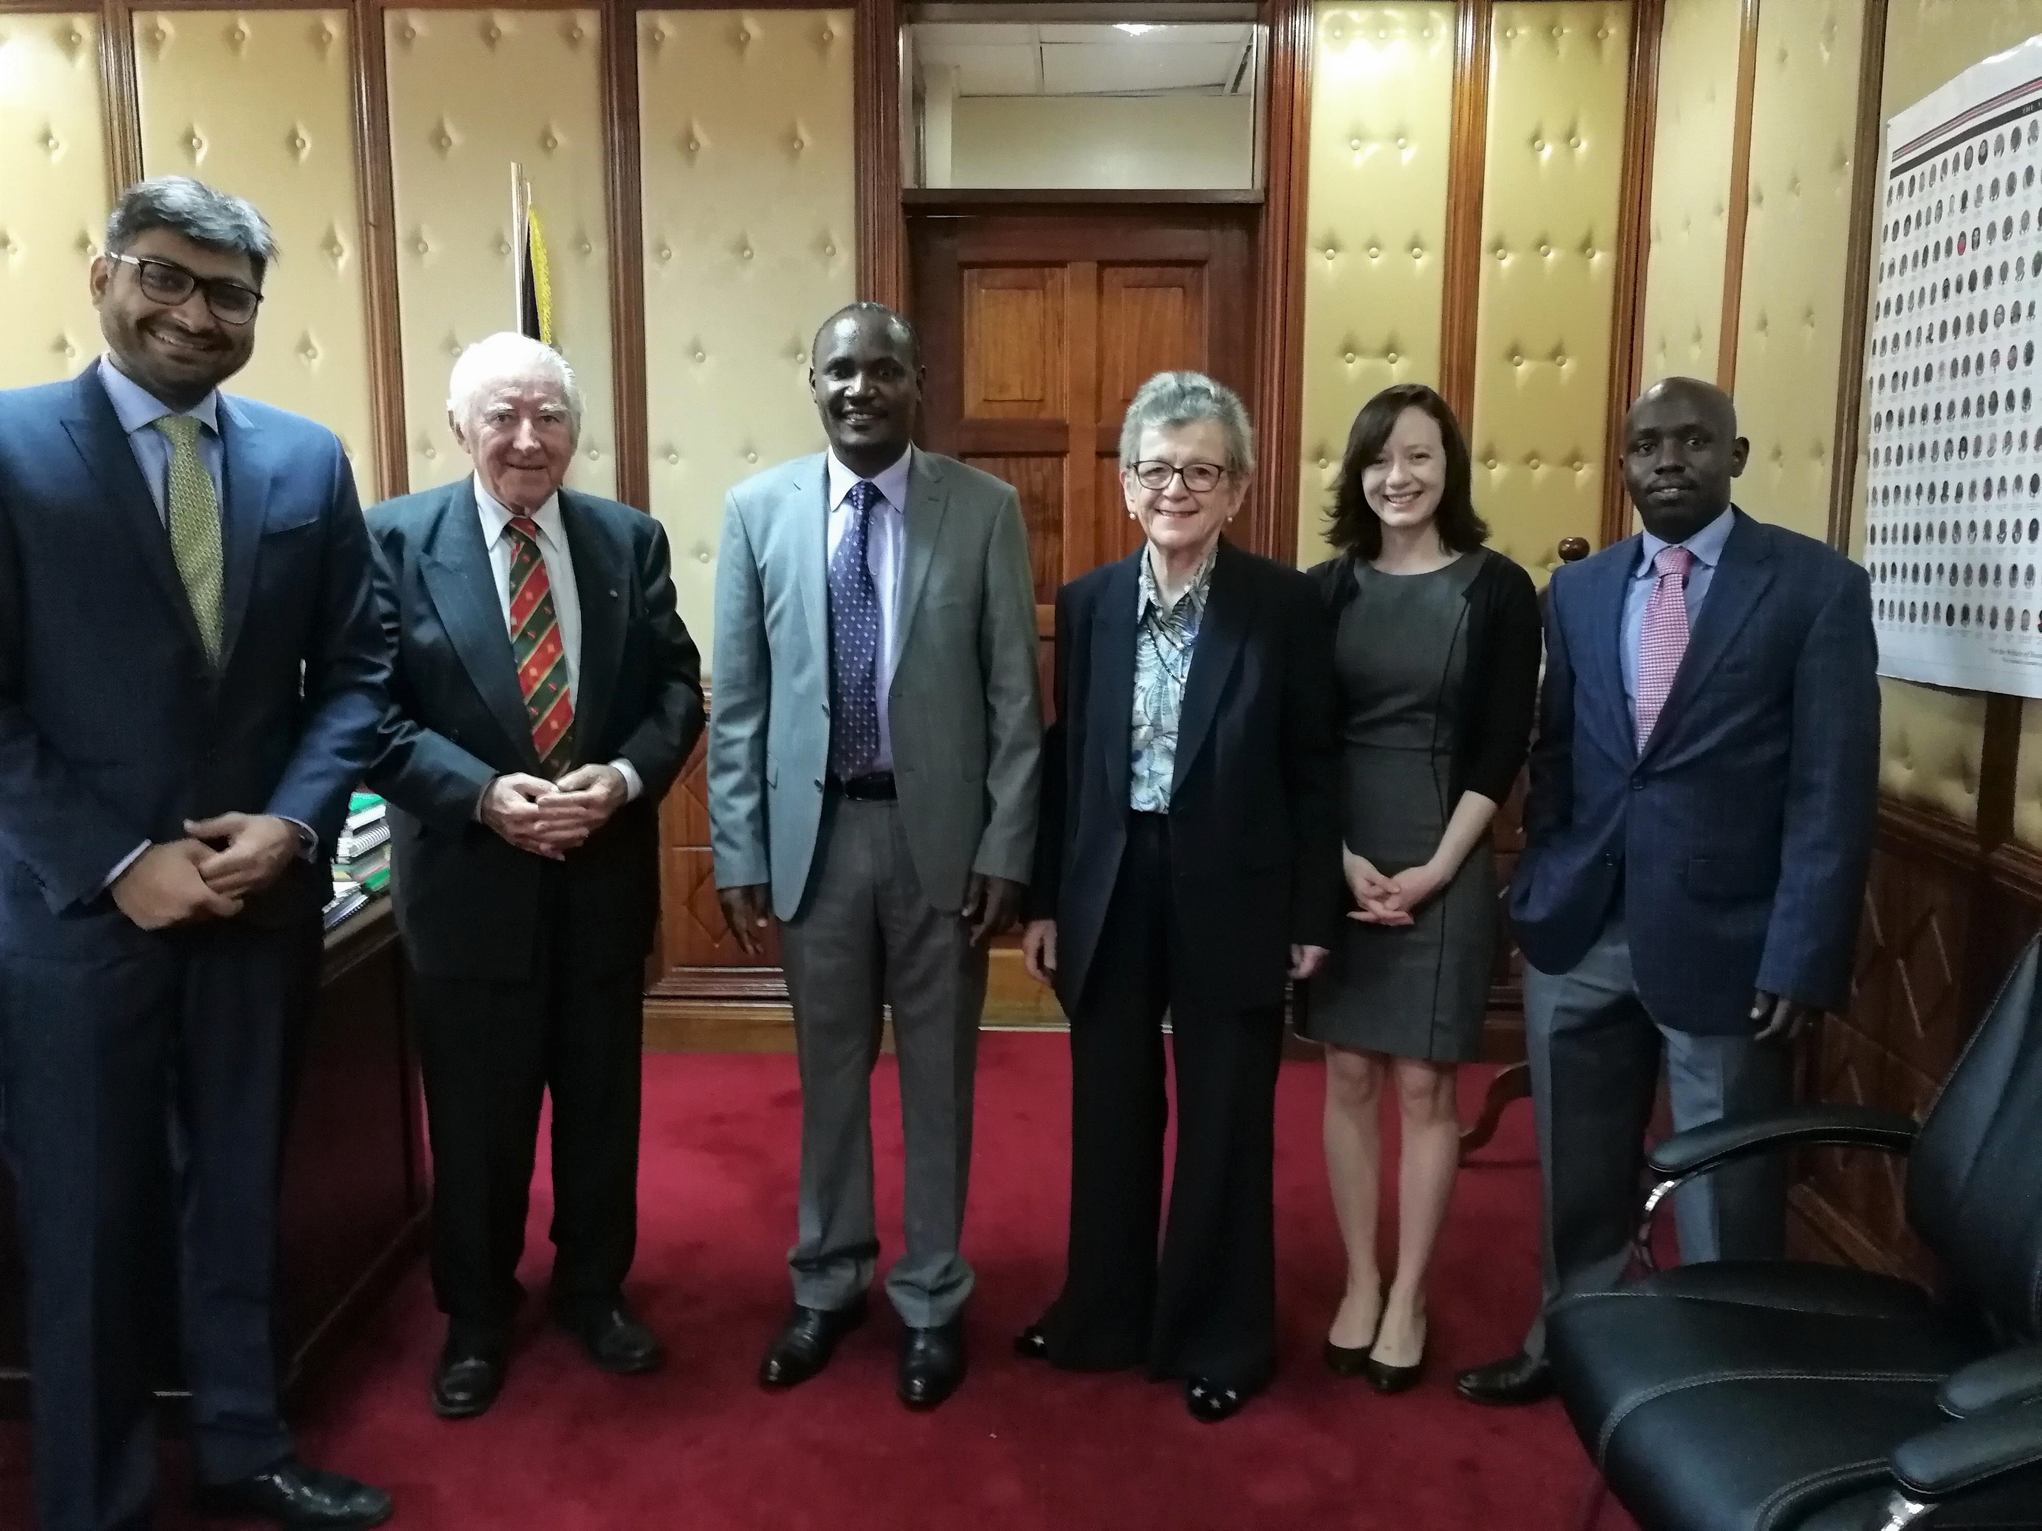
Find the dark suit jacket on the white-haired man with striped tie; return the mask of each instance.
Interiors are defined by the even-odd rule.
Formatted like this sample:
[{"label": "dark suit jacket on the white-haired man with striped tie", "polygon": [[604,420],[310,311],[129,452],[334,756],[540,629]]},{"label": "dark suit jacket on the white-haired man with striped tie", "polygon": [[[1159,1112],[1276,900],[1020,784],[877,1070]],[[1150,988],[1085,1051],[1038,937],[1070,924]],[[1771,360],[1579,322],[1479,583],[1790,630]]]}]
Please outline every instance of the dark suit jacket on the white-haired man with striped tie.
[{"label": "dark suit jacket on the white-haired man with striped tie", "polygon": [[[660,917],[660,798],[702,733],[702,661],[674,610],[666,531],[560,492],[582,604],[574,763],[629,759],[645,790],[562,863],[570,945],[629,968]],[[482,788],[539,770],[482,543],[474,480],[370,510],[376,608],[394,655],[370,786],[392,806],[392,896],[412,964],[439,978],[525,978],[547,861],[476,819]]]}]

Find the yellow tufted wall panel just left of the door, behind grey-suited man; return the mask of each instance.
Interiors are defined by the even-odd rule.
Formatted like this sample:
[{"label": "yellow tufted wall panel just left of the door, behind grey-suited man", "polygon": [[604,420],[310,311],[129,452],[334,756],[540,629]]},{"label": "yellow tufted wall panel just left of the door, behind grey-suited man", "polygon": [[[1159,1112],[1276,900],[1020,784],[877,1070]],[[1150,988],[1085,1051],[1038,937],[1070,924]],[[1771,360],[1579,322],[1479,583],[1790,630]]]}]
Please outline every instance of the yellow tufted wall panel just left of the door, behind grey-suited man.
[{"label": "yellow tufted wall panel just left of the door, behind grey-suited man", "polygon": [[858,296],[852,12],[637,24],[651,508],[707,659],[723,494],[821,449],[809,341]]}]

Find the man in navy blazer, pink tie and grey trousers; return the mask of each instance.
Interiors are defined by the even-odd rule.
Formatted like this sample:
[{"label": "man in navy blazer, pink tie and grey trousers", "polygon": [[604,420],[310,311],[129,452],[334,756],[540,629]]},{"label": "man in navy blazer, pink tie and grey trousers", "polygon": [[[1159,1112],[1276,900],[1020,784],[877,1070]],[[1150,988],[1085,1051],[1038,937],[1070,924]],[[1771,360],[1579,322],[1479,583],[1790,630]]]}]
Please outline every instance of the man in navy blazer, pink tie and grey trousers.
[{"label": "man in navy blazer, pink tie and grey trousers", "polygon": [[[1613,1284],[1638,1215],[1660,1053],[1676,1129],[1772,1110],[1791,1043],[1846,998],[1879,798],[1870,584],[1730,502],[1730,398],[1668,378],[1632,408],[1644,521],[1558,570],[1511,919],[1544,1170],[1546,1304]],[[1779,1159],[1676,1196],[1681,1253],[1779,1257]],[[1474,1402],[1550,1392],[1523,1351],[1460,1376]]]}]

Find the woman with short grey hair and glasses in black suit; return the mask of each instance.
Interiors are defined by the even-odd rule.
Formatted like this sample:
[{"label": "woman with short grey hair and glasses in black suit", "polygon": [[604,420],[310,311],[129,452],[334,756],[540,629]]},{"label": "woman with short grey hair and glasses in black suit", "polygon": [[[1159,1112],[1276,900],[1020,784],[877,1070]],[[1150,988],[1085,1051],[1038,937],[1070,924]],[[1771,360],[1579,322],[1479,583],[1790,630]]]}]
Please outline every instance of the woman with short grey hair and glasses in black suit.
[{"label": "woman with short grey hair and glasses in black suit", "polygon": [[[1233,390],[1150,378],[1121,431],[1129,557],[1056,600],[1056,723],[1023,955],[1070,1017],[1070,1260],[1017,1349],[1182,1378],[1195,1419],[1276,1368],[1284,984],[1340,925],[1323,610],[1225,529],[1254,474]],[[1176,1172],[1156,1255],[1176,1064]]]}]

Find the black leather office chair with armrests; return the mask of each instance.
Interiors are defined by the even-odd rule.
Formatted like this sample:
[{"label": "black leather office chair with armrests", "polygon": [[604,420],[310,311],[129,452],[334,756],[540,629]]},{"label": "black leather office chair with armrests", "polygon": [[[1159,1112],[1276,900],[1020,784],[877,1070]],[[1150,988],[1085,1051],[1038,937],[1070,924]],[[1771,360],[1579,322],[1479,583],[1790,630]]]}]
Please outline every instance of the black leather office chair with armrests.
[{"label": "black leather office chair with armrests", "polygon": [[1928,1121],[1797,1106],[1676,1133],[1648,1155],[1650,1225],[1676,1184],[1746,1153],[1905,1153],[1907,1221],[1946,1290],[1711,1262],[1558,1302],[1560,1398],[1642,1531],[2042,1531],[2038,953],[2042,937]]}]

